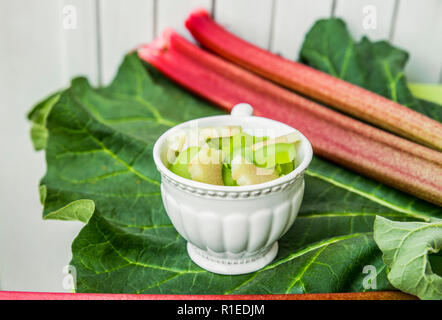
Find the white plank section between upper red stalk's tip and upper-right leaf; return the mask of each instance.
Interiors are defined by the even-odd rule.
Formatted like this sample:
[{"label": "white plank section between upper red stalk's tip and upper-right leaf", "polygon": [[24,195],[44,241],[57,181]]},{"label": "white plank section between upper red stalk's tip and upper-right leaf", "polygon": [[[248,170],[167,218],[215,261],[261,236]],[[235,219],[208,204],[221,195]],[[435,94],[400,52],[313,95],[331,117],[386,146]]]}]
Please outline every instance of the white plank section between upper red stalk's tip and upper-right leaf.
[{"label": "white plank section between upper red stalk's tip and upper-right leaf", "polygon": [[275,0],[271,51],[297,60],[306,32],[319,18],[331,15],[332,0]]}]

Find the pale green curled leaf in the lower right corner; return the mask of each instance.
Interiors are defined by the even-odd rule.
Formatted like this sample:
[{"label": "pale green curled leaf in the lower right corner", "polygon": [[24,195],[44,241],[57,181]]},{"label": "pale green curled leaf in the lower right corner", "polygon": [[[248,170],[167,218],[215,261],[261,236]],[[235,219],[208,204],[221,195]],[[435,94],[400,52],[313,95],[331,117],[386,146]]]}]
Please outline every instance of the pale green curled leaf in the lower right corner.
[{"label": "pale green curled leaf in the lower right corner", "polygon": [[429,258],[442,248],[442,220],[398,222],[376,217],[374,239],[393,286],[421,299],[442,300],[442,277],[436,272],[440,269],[433,270]]}]

